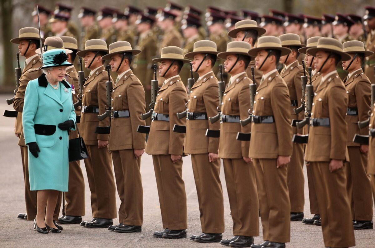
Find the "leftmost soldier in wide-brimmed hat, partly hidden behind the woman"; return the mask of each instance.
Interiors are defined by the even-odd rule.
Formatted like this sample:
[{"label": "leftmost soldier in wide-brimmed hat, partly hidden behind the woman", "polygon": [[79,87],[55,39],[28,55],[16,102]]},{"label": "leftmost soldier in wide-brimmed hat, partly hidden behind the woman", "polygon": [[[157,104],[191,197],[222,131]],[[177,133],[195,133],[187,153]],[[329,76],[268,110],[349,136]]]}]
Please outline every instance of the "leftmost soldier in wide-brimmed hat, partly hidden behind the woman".
[{"label": "leftmost soldier in wide-brimmed hat, partly hidden behind the woman", "polygon": [[[36,79],[40,76],[37,75],[34,78],[27,80],[24,77],[24,73],[30,70],[31,68],[39,68],[42,66],[42,60],[39,55],[35,52],[36,49],[40,47],[39,43],[39,30],[33,27],[21,28],[19,31],[18,38],[10,40],[10,42],[18,45],[18,52],[21,56],[26,58],[24,68],[20,78],[20,86],[16,93],[15,99],[13,100],[13,107],[18,111],[17,118],[14,124],[15,135],[19,138],[18,145],[21,149],[21,160],[22,168],[24,172],[25,180],[25,203],[26,203],[26,214],[18,214],[18,218],[25,220],[34,220],[36,216],[36,191],[30,191],[30,183],[28,178],[28,159],[27,159],[27,146],[25,144],[22,129],[22,110],[23,110],[23,101],[25,98],[26,86],[29,80]],[[42,39],[44,42],[44,39]],[[28,73],[30,74],[30,73]],[[22,85],[21,85],[22,82]],[[19,103],[21,102],[21,103]],[[25,157],[26,156],[26,157]]]}]

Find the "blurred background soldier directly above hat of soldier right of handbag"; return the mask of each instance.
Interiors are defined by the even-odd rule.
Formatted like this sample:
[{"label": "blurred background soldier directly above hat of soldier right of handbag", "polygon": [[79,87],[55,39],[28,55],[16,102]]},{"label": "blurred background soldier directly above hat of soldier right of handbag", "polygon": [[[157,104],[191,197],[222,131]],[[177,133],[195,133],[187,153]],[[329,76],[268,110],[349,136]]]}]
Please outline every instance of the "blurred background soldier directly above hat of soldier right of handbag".
[{"label": "blurred background soldier directly above hat of soldier right of handbag", "polygon": [[99,27],[95,23],[96,11],[87,7],[81,7],[78,19],[80,19],[82,32],[80,35],[81,48],[85,47],[87,40],[99,39]]}]

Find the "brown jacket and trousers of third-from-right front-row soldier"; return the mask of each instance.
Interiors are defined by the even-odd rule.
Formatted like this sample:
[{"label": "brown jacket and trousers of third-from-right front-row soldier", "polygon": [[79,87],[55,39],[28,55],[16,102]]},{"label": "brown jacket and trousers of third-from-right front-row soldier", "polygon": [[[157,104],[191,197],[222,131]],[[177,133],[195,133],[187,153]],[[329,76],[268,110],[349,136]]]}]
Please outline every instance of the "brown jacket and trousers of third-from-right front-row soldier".
[{"label": "brown jacket and trousers of third-from-right front-row soldier", "polygon": [[[238,80],[237,80],[238,79]],[[249,117],[252,81],[241,74],[224,92],[222,114]],[[222,122],[220,125],[219,157],[223,159],[226,189],[233,220],[234,236],[259,236],[259,204],[253,163],[246,163],[249,141],[238,141],[238,132],[249,133],[251,125]]]}]

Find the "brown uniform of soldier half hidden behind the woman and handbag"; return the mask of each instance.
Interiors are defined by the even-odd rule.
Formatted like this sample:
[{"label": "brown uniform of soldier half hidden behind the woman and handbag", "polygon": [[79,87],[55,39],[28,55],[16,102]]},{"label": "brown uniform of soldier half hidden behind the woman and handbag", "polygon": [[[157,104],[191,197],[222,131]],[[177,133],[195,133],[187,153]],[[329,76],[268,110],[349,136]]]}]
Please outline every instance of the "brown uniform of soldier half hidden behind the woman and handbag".
[{"label": "brown uniform of soldier half hidden behind the woman and handbag", "polygon": [[[73,93],[73,103],[78,101],[78,74],[75,67],[70,68],[66,71],[68,77],[68,83],[74,85],[75,92]],[[81,114],[81,107],[75,109],[75,114],[79,116]],[[78,128],[80,124],[77,123],[77,129],[71,131],[69,139],[78,137]],[[85,215],[85,181],[83,179],[82,169],[80,167],[80,161],[69,162],[69,184],[68,192],[65,192],[65,214],[71,216],[84,216]]]}]

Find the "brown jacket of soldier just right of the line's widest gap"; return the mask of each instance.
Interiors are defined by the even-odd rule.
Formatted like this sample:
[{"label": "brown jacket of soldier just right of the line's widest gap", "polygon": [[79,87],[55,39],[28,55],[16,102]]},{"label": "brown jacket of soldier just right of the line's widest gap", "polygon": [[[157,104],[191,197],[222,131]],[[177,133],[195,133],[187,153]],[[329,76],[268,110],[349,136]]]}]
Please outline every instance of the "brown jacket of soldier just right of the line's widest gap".
[{"label": "brown jacket of soldier just right of the line's widest gap", "polygon": [[169,122],[155,120],[151,122],[145,152],[152,155],[158,154],[183,154],[185,134],[173,132],[175,124],[184,126],[186,119],[178,119],[176,113],[185,110],[187,102],[186,88],[180,76],[166,82],[157,92],[154,113],[169,114]]}]

